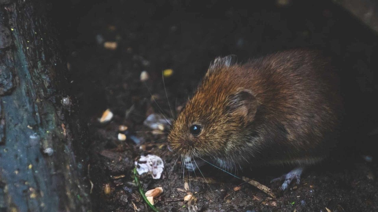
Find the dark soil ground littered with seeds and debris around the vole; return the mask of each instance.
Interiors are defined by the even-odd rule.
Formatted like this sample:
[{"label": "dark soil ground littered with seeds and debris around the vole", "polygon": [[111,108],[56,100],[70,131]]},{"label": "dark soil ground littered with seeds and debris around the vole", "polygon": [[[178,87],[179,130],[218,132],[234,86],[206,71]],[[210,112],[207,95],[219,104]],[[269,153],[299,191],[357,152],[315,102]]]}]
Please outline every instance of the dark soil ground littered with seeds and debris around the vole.
[{"label": "dark soil ground littered with seeds and debris around the vole", "polygon": [[[134,161],[147,154],[164,161],[160,179],[139,176],[145,191],[164,187],[155,199],[160,211],[378,211],[378,155],[373,148],[378,138],[366,136],[378,125],[378,106],[372,101],[378,90],[373,78],[378,37],[331,2],[301,2],[72,2],[70,13],[81,15],[68,19],[70,30],[62,36],[72,95],[88,120],[93,211],[150,211],[131,174]],[[107,41],[116,42],[116,48],[104,48]],[[296,47],[322,49],[342,70],[347,120],[354,125],[329,159],[308,169],[301,183],[285,192],[270,180],[291,167],[236,173],[270,187],[276,198],[211,166],[201,168],[204,177],[198,171],[183,172],[180,159],[172,169],[177,156],[167,151],[168,129],[152,133],[143,125],[148,115],[161,109],[174,118],[216,56],[235,54],[242,62]],[[164,69],[173,70],[165,78],[170,104]],[[145,83],[139,80],[142,71],[149,73]],[[108,108],[114,117],[100,124],[98,118]],[[126,141],[117,138],[121,124],[128,127]],[[183,200],[185,182],[197,198],[190,204]]]}]

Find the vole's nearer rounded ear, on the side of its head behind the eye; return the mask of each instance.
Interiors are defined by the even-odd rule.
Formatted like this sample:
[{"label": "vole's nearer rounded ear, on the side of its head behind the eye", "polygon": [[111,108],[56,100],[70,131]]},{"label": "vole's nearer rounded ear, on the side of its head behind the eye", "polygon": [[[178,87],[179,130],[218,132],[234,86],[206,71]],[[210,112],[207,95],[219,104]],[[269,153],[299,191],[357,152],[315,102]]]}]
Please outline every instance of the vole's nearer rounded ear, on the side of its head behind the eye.
[{"label": "vole's nearer rounded ear, on the side of its head behind the eye", "polygon": [[240,89],[229,97],[230,112],[244,117],[246,121],[254,120],[257,106],[256,97],[246,89]]}]

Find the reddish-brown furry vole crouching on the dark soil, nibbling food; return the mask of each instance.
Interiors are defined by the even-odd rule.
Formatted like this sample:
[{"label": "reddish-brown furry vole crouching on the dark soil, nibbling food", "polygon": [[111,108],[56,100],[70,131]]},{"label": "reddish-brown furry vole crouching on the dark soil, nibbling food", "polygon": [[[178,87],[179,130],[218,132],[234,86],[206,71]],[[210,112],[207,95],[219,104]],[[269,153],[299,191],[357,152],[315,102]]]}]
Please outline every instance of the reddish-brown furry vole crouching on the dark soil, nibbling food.
[{"label": "reddish-brown furry vole crouching on the dark soil, nibbling food", "polygon": [[335,143],[341,98],[332,66],[318,52],[291,50],[251,60],[216,58],[170,130],[172,151],[222,169],[261,164],[302,167]]}]

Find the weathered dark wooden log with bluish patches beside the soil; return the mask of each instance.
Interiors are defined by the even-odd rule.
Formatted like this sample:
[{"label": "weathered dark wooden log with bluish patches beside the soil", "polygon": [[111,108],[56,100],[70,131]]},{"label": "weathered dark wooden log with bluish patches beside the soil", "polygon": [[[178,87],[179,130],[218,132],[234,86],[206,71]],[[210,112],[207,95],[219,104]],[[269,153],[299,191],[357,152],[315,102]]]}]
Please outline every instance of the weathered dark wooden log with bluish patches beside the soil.
[{"label": "weathered dark wooden log with bluish patches beside the soil", "polygon": [[85,128],[45,0],[0,0],[0,211],[89,211]]}]

